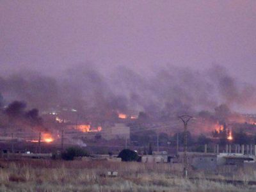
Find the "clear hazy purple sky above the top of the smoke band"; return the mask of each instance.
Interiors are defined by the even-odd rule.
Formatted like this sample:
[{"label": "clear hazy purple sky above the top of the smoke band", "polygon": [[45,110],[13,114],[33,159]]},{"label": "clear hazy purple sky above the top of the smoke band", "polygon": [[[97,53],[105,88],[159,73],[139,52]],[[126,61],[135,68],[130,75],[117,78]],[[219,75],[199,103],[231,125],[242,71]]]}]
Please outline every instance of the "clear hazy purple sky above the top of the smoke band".
[{"label": "clear hazy purple sky above the top of the smoke band", "polygon": [[0,74],[91,61],[256,72],[256,1],[0,1]]}]

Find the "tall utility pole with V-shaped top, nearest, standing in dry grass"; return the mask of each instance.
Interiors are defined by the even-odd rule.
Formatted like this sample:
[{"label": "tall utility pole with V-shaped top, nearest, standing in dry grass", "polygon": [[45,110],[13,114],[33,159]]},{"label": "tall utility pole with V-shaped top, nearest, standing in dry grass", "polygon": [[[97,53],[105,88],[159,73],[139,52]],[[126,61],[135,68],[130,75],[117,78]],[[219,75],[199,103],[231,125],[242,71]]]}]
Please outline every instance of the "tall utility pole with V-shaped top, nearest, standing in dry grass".
[{"label": "tall utility pole with V-shaped top, nearest, standing in dry grass", "polygon": [[192,116],[189,115],[182,115],[179,116],[179,118],[182,120],[184,124],[184,155],[183,155],[183,163],[184,163],[184,169],[183,169],[183,176],[185,178],[188,177],[188,156],[187,156],[187,150],[188,150],[188,122]]}]

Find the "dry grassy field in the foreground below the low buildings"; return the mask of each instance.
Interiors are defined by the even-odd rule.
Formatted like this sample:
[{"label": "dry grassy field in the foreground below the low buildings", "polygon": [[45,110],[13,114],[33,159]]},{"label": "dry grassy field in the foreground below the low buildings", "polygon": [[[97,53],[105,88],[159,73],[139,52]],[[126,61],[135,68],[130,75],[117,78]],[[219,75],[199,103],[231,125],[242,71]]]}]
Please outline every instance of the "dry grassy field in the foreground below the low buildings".
[{"label": "dry grassy field in the foreground below the low buildings", "polygon": [[[1,161],[0,191],[256,191],[252,184],[256,171],[252,169],[234,173],[232,178],[193,172],[197,179],[185,180],[177,172],[180,168],[170,164]],[[117,171],[118,176],[108,177],[108,171]]]}]

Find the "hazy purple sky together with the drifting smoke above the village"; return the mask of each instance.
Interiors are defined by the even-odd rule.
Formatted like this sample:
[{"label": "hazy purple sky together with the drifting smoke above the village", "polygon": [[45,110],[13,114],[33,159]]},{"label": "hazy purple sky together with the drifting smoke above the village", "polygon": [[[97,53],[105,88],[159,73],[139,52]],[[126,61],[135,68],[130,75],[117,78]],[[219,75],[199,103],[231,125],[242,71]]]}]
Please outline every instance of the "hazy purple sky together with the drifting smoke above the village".
[{"label": "hazy purple sky together with the drifting smoke above the village", "polygon": [[3,103],[255,113],[255,11],[255,1],[1,1]]}]

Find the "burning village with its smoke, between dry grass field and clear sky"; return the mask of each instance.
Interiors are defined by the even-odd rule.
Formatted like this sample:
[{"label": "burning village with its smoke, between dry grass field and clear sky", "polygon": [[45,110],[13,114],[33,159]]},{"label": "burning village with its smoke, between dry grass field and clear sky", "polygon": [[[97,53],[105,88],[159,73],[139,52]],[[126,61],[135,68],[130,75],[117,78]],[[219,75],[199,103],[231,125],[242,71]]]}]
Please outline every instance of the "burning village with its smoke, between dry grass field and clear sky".
[{"label": "burning village with its smoke, between dry grass field and clear sky", "polygon": [[255,86],[220,65],[202,73],[170,67],[147,77],[114,71],[109,79],[86,63],[64,78],[0,77],[0,163],[136,161],[167,165],[185,179],[253,168],[256,114],[241,109],[254,107]]}]

